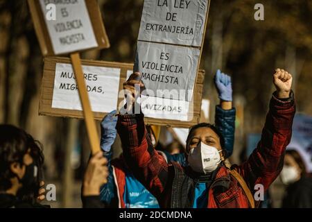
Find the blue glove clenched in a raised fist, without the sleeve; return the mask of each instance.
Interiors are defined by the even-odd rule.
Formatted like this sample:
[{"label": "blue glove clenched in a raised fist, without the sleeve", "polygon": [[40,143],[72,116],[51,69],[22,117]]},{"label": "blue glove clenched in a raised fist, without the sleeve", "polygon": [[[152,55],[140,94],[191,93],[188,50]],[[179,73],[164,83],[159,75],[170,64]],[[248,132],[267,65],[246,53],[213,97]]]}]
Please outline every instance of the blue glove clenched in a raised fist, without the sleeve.
[{"label": "blue glove clenched in a raised fist, without the sleeve", "polygon": [[223,101],[233,101],[232,98],[232,81],[231,77],[227,74],[221,73],[220,69],[216,72],[214,76],[214,83],[216,89],[218,90],[219,98]]}]

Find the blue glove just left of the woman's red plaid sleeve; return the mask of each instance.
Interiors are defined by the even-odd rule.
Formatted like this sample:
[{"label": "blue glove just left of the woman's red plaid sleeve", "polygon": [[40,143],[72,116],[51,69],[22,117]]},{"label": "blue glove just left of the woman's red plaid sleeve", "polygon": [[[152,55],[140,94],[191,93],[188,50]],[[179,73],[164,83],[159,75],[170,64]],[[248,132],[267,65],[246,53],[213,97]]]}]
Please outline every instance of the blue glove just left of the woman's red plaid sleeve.
[{"label": "blue glove just left of the woman's red plaid sleeve", "polygon": [[116,139],[117,117],[115,114],[116,110],[110,112],[101,122],[101,149],[104,152],[110,151],[110,148]]}]

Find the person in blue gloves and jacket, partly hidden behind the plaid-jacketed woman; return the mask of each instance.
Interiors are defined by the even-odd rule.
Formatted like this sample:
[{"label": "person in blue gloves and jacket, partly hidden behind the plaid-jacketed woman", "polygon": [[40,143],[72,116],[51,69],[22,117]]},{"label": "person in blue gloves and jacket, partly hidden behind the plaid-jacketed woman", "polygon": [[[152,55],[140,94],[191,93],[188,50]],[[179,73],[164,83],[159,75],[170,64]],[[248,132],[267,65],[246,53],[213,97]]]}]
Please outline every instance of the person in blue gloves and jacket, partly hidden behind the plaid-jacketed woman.
[{"label": "person in blue gloves and jacket, partly hidden behind the plaid-jacketed woman", "polygon": [[[236,110],[232,107],[232,81],[227,74],[218,70],[214,77],[214,83],[220,99],[220,105],[216,105],[215,124],[223,134],[226,157],[229,157],[233,152],[236,115]],[[159,208],[157,199],[141,185],[131,173],[131,169],[126,166],[123,155],[112,160],[111,147],[117,134],[116,121],[116,111],[113,111],[107,114],[101,122],[101,149],[107,158],[107,167],[110,172],[107,184],[101,187],[101,201],[108,207]],[[150,137],[153,137],[152,130],[148,129],[148,131]],[[184,153],[170,155],[162,152],[162,155],[166,155],[165,159],[168,162],[178,162],[181,165],[187,162]]]}]

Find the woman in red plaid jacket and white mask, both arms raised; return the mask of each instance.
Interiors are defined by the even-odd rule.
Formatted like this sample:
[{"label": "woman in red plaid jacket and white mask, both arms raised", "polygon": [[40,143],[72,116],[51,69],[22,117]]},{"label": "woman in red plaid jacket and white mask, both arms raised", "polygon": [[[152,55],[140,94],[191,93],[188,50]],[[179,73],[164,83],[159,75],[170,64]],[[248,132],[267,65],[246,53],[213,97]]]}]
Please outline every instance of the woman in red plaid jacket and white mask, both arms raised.
[{"label": "woman in red plaid jacket and white mask, both arms raised", "polygon": [[[217,74],[218,75],[218,74]],[[135,73],[124,83],[124,89],[135,95],[135,85],[143,87]],[[229,77],[220,75],[224,87]],[[281,171],[286,146],[291,140],[295,101],[291,91],[292,77],[277,69],[270,110],[261,141],[248,161],[227,168],[223,136],[209,123],[200,123],[189,131],[188,166],[167,163],[150,142],[144,114],[121,114],[116,129],[123,144],[123,155],[132,173],[158,200],[160,207],[257,207],[254,186],[266,191]],[[131,94],[127,94],[127,97]],[[227,96],[225,96],[227,97]],[[132,99],[130,101],[135,101]],[[127,104],[127,110],[134,104]]]}]

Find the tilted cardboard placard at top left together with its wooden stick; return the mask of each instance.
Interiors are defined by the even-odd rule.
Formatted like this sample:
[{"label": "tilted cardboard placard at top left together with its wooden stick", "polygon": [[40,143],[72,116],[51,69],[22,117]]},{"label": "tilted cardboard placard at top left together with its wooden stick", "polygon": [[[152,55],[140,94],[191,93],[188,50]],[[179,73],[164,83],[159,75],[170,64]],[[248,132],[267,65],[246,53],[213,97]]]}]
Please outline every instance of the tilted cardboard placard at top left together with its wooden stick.
[{"label": "tilted cardboard placard at top left together with its wooden stick", "polygon": [[[28,0],[33,24],[44,56],[71,56],[80,103],[92,153],[101,151],[100,139],[87,93],[80,51],[110,47],[96,0]],[[77,101],[78,102],[78,101]]]}]

